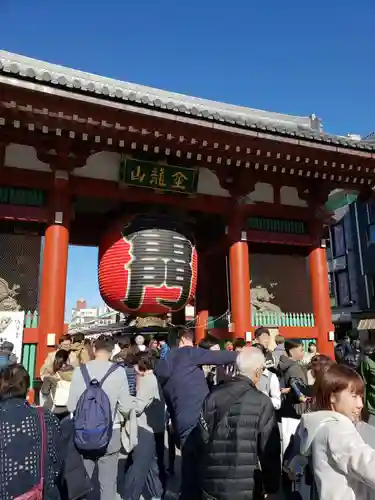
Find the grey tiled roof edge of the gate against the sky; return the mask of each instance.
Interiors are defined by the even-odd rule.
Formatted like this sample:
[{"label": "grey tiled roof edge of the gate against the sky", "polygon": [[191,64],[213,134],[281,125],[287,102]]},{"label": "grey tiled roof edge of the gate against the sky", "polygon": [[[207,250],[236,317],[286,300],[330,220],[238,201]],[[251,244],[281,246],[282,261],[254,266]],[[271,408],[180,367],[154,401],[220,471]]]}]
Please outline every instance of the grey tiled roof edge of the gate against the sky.
[{"label": "grey tiled roof edge of the gate against the sky", "polygon": [[73,70],[29,57],[0,51],[0,75],[80,92],[102,99],[127,101],[144,108],[165,110],[179,115],[221,122],[269,134],[319,142],[331,146],[375,151],[371,140],[354,140],[320,131],[314,116],[300,117],[225,104],[198,97],[122,82]]}]

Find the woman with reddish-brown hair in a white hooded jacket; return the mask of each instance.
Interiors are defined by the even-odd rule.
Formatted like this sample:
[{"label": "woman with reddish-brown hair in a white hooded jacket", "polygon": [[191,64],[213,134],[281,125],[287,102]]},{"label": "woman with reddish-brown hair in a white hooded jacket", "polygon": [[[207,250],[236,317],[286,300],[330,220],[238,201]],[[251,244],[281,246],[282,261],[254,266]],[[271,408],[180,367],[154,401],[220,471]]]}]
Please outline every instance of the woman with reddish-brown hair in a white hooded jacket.
[{"label": "woman with reddish-brown hair in a white hooded jacket", "polygon": [[365,500],[375,492],[375,449],[356,427],[363,380],[352,368],[333,364],[318,376],[314,392],[315,411],[302,416],[296,433],[299,463],[301,457],[309,462],[320,500]]}]

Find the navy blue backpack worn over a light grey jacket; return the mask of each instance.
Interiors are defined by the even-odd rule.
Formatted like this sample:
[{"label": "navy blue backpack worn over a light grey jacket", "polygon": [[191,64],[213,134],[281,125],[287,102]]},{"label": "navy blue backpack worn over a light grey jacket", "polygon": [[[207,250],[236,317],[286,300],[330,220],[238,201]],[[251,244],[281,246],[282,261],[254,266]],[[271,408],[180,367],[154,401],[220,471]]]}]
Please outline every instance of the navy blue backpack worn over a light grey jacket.
[{"label": "navy blue backpack worn over a light grey jacket", "polygon": [[112,438],[112,409],[102,386],[117,368],[118,365],[113,364],[99,382],[91,380],[87,366],[81,365],[86,390],[79,398],[74,414],[74,443],[83,455],[103,455]]}]

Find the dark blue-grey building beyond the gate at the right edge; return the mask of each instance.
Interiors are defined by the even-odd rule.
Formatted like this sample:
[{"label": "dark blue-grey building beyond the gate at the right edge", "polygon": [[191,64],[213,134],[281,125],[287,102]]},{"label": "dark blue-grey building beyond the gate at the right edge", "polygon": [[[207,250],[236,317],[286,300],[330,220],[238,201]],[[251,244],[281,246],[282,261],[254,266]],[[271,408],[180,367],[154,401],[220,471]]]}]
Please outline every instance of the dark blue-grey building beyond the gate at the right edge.
[{"label": "dark blue-grey building beyond the gate at the right edge", "polygon": [[327,258],[332,320],[340,337],[375,330],[375,201],[356,201],[335,214]]}]

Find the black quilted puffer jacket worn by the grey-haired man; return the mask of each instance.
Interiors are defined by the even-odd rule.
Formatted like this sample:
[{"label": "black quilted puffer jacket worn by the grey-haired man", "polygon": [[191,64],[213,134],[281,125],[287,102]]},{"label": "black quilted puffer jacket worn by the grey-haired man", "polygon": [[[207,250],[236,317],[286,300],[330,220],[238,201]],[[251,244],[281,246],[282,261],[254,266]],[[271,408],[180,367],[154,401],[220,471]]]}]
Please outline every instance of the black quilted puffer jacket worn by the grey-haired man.
[{"label": "black quilted puffer jacket worn by the grey-haired man", "polygon": [[[234,401],[222,415],[220,408]],[[210,439],[202,453],[202,493],[215,500],[252,499],[263,480],[264,492],[279,489],[280,434],[271,400],[246,377],[216,388],[203,406]],[[220,418],[220,417],[219,417]],[[260,467],[259,467],[260,465]]]}]

